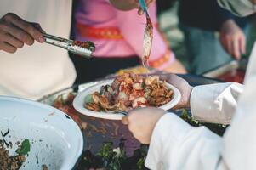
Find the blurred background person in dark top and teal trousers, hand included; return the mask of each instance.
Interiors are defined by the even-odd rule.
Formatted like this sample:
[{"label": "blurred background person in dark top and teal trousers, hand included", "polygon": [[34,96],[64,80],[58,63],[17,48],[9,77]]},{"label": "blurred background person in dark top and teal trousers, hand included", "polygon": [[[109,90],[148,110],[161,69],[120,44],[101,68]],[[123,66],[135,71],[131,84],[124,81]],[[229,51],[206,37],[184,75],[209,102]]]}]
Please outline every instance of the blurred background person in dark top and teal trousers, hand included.
[{"label": "blurred background person in dark top and teal trousers, hand included", "polygon": [[216,0],[180,0],[179,26],[191,73],[202,74],[246,53],[247,19],[220,8]]}]

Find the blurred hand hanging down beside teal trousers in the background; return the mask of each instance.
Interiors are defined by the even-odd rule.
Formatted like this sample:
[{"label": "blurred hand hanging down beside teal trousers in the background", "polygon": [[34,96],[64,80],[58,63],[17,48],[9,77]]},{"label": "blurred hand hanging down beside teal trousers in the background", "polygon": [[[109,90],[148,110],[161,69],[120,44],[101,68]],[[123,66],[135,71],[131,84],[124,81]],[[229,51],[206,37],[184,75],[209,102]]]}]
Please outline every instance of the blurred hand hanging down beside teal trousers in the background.
[{"label": "blurred hand hanging down beside teal trousers in the background", "polygon": [[235,59],[246,53],[246,37],[234,20],[227,20],[220,29],[220,42]]}]

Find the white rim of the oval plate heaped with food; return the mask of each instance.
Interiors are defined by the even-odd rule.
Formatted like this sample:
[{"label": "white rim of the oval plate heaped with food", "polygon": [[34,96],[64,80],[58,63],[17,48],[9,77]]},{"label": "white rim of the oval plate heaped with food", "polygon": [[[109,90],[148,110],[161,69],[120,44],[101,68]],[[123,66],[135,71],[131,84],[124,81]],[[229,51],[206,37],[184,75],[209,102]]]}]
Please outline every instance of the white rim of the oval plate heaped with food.
[{"label": "white rim of the oval plate heaped with food", "polygon": [[[73,105],[77,111],[82,113],[83,115],[86,116],[94,116],[98,118],[103,118],[103,119],[110,119],[110,120],[122,120],[123,115],[121,113],[111,113],[111,112],[98,112],[98,111],[90,111],[84,107],[84,99],[88,94],[93,94],[95,91],[100,92],[101,86],[105,86],[107,84],[111,84],[113,80],[108,80],[99,84],[96,84],[90,88],[87,88],[83,90],[82,92],[77,94],[77,97],[73,101]],[[175,88],[173,85],[167,83],[167,87],[171,88],[174,90],[174,98],[168,102],[166,105],[162,105],[160,108],[164,110],[169,110],[173,108],[175,105],[179,103],[179,100],[181,98],[181,94],[177,88]]]}]

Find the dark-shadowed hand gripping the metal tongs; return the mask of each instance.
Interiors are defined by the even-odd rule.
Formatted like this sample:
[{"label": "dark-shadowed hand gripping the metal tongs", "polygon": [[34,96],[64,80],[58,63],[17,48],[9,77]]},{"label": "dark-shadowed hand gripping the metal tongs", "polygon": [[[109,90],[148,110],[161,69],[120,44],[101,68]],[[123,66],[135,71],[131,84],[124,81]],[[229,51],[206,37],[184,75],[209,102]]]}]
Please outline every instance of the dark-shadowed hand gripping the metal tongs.
[{"label": "dark-shadowed hand gripping the metal tongs", "polygon": [[44,42],[42,31],[37,23],[27,22],[16,14],[5,14],[0,19],[0,50],[15,53],[24,43]]}]

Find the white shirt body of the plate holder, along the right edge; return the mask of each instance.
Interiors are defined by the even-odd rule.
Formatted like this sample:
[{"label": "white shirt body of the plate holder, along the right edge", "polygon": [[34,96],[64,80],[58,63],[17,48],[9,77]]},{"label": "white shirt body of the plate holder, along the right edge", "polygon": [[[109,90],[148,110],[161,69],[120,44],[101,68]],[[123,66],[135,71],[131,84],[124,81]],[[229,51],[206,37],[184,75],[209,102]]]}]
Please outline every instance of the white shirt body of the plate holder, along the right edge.
[{"label": "white shirt body of the plate holder, along the right edge", "polygon": [[230,128],[223,157],[230,169],[256,169],[256,43],[247,65],[245,88]]}]

